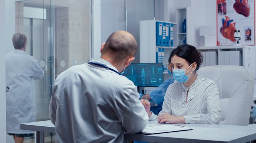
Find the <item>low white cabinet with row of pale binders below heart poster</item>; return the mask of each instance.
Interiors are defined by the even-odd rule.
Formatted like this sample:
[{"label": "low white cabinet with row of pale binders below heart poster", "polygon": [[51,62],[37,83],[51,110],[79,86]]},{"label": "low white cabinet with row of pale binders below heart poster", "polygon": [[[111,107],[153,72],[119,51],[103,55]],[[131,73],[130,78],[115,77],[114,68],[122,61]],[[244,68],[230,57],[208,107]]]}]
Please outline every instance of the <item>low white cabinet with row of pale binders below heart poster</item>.
[{"label": "low white cabinet with row of pale binders below heart poster", "polygon": [[197,49],[204,56],[202,66],[240,65],[251,69],[256,77],[255,46],[212,46],[198,47]]}]

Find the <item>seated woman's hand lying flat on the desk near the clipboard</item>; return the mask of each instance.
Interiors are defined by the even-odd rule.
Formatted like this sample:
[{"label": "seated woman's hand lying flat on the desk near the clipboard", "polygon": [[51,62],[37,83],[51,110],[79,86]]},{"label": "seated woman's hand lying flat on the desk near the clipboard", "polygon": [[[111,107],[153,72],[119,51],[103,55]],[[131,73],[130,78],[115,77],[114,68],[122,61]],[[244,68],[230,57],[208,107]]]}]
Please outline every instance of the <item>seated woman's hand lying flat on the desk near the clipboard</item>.
[{"label": "seated woman's hand lying flat on the desk near the clipboard", "polygon": [[168,113],[165,113],[164,115],[159,115],[158,117],[158,123],[165,123],[169,122],[171,124],[177,124],[177,123],[184,123],[185,124],[185,119],[184,116],[173,116]]}]

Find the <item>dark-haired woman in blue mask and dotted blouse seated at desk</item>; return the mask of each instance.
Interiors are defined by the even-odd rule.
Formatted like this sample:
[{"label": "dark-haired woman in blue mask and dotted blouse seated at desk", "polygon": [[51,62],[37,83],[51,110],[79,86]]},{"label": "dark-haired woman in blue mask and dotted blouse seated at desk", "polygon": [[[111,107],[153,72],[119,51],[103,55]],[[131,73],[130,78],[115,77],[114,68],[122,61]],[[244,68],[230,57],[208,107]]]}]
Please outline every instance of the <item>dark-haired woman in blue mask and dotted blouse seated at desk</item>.
[{"label": "dark-haired woman in blue mask and dotted blouse seated at desk", "polygon": [[[158,116],[147,110],[150,121],[172,124],[220,123],[221,107],[217,85],[196,74],[202,61],[202,53],[192,45],[180,45],[171,52],[166,67],[177,82],[168,87],[163,109]],[[145,108],[148,105],[146,102],[141,99]]]}]

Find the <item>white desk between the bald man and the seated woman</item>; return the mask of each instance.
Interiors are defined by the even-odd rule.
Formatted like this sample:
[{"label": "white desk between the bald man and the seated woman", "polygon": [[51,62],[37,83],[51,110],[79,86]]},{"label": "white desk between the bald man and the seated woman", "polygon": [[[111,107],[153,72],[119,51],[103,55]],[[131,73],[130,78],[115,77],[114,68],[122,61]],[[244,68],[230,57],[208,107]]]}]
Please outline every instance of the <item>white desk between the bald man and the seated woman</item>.
[{"label": "white desk between the bald man and the seated woman", "polygon": [[[148,126],[155,126],[150,121]],[[158,143],[245,143],[256,140],[256,124],[250,126],[231,125],[190,125],[194,130],[162,134],[125,134],[125,140],[150,141]],[[36,131],[36,143],[43,143],[43,132],[55,132],[51,121],[38,121],[20,124],[22,130]]]}]

